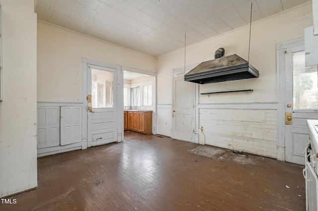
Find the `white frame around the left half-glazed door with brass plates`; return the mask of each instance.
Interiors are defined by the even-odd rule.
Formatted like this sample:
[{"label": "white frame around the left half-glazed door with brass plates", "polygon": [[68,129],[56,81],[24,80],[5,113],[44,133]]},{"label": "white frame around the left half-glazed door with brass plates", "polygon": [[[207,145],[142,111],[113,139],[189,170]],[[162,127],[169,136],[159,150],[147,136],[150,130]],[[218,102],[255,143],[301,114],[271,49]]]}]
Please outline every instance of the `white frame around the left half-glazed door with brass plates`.
[{"label": "white frame around the left half-glazed door with brass plates", "polygon": [[[82,150],[91,147],[88,143],[87,125],[87,65],[96,65],[117,70],[117,95],[123,96],[123,71],[120,65],[96,61],[82,57]],[[124,102],[122,98],[117,98],[117,142],[124,140]]]}]

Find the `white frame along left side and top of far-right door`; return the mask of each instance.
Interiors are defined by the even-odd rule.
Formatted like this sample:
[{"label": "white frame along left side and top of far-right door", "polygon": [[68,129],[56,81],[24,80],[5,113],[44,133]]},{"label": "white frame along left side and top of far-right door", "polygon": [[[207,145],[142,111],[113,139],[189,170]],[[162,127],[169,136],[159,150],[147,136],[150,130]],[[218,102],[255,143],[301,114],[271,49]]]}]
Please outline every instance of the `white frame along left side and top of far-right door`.
[{"label": "white frame along left side and top of far-right door", "polygon": [[285,53],[286,49],[305,45],[304,38],[290,40],[276,45],[277,69],[277,160],[285,161]]}]

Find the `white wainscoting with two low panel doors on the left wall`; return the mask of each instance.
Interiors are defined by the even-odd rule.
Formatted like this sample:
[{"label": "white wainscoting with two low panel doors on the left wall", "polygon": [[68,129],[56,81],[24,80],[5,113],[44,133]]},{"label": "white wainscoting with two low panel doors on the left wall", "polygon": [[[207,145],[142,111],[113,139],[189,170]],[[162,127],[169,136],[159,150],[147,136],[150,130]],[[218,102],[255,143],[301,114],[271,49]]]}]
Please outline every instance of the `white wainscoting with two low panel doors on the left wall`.
[{"label": "white wainscoting with two low panel doors on the left wall", "polygon": [[83,147],[82,103],[37,103],[37,157]]}]

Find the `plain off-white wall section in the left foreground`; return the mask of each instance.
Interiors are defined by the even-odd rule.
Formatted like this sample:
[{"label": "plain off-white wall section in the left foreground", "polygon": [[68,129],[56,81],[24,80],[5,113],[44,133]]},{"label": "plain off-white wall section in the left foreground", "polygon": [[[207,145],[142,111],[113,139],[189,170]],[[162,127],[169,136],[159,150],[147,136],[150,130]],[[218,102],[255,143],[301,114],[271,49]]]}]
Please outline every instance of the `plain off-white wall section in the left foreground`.
[{"label": "plain off-white wall section in the left foreground", "polygon": [[3,101],[0,197],[37,186],[36,14],[33,0],[1,0]]}]

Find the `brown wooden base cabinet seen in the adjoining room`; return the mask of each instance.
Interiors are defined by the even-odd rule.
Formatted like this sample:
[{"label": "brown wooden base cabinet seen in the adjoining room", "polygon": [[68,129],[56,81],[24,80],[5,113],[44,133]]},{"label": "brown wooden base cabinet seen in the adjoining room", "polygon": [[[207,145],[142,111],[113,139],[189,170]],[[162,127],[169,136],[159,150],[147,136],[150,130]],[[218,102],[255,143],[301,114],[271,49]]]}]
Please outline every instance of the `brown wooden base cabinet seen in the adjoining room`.
[{"label": "brown wooden base cabinet seen in the adjoining room", "polygon": [[[126,111],[124,111],[126,112]],[[125,113],[124,113],[125,116]],[[152,134],[153,127],[153,111],[127,111],[128,130]],[[124,123],[125,125],[125,123]]]}]

